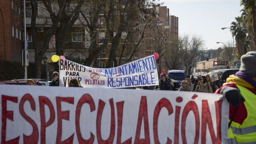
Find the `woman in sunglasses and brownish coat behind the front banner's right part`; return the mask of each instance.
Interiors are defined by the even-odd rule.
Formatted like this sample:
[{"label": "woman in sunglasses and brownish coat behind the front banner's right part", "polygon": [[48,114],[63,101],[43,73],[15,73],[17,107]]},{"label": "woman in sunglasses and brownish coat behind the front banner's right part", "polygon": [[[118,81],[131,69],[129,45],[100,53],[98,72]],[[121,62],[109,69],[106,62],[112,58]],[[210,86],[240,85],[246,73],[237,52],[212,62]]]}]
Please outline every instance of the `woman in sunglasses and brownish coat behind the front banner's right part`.
[{"label": "woman in sunglasses and brownish coat behind the front banner's right part", "polygon": [[198,82],[198,85],[196,86],[195,92],[212,93],[212,87],[210,86],[210,83],[207,82],[207,79],[205,76],[199,77],[199,82]]}]

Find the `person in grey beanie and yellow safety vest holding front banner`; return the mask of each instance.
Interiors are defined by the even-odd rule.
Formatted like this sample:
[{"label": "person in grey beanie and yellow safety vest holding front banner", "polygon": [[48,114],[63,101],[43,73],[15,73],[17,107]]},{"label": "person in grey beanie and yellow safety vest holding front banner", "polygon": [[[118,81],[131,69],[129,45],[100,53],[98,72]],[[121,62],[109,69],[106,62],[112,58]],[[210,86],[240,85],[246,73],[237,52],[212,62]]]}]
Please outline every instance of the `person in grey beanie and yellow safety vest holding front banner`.
[{"label": "person in grey beanie and yellow safety vest holding front banner", "polygon": [[241,67],[215,93],[229,102],[228,143],[256,143],[256,52],[242,55]]}]

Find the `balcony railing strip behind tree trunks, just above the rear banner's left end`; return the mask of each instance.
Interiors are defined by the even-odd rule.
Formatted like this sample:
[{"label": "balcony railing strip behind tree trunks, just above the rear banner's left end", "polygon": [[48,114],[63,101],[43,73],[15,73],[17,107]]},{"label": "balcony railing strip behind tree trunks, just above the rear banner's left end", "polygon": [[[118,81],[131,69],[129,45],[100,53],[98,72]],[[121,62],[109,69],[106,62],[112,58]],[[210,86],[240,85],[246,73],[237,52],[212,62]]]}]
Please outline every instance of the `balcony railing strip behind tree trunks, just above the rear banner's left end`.
[{"label": "balcony railing strip behind tree trunks, just above the rear banner's left end", "polygon": [[[38,48],[42,49],[44,41],[38,41]],[[54,49],[55,48],[55,41],[51,41],[47,45],[47,49]],[[64,49],[83,49],[85,47],[84,42],[64,42],[63,43]],[[28,49],[34,49],[32,42],[28,42]]]}]

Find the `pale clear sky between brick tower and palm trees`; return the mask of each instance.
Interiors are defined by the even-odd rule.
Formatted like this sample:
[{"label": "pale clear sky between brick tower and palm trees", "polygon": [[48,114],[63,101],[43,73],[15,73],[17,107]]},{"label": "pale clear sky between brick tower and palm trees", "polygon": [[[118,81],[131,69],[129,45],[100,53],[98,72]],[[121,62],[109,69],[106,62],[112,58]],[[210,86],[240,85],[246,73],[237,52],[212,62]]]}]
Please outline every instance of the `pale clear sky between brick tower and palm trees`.
[{"label": "pale clear sky between brick tower and palm trees", "polygon": [[[179,17],[179,35],[201,36],[205,49],[223,47],[222,43],[233,43],[230,29],[235,17],[241,16],[240,0],[161,0],[171,15]],[[217,42],[222,42],[217,44]]]}]

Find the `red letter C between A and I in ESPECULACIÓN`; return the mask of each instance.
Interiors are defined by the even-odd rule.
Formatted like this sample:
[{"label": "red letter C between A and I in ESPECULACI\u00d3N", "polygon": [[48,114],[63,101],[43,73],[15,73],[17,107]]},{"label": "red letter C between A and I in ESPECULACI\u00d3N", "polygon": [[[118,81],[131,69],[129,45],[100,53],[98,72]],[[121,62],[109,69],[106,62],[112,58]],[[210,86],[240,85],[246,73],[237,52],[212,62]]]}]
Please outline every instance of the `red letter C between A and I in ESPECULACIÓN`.
[{"label": "red letter C between A and I in ESPECULACI\u00d3N", "polygon": [[[158,101],[154,111],[154,119],[153,119],[154,120],[153,132],[154,132],[155,143],[160,143],[158,139],[157,124],[158,124],[158,117],[159,117],[160,111],[163,107],[167,108],[169,116],[173,113],[172,104],[168,99],[163,98]],[[167,143],[172,143],[172,140],[169,139],[168,137],[167,137]]]}]

